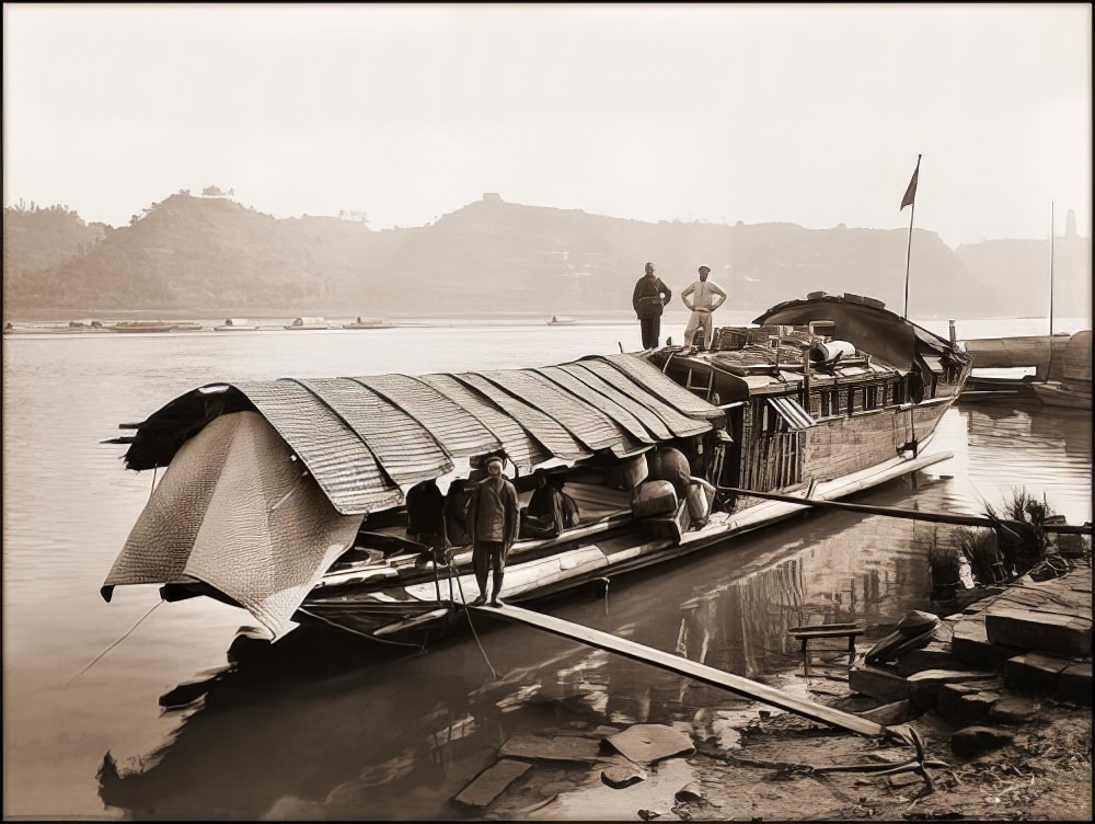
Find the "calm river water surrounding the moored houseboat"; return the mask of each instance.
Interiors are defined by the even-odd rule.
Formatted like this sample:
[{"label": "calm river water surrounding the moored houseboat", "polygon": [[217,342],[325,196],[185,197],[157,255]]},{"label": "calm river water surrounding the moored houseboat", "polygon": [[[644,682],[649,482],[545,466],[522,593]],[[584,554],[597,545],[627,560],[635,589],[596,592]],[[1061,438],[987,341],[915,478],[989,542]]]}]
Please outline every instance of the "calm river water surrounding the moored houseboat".
[{"label": "calm river water surrounding the moored houseboat", "polygon": [[[946,321],[925,325],[946,333]],[[958,331],[1045,333],[1027,321]],[[149,614],[154,586],[118,587],[113,604],[99,595],[152,483],[151,472],[123,468],[125,447],[100,442],[177,394],[284,376],[541,366],[620,342],[637,348],[637,323],[5,335],[5,820],[472,817],[451,799],[514,734],[647,721],[717,733],[731,696],[531,629],[484,620],[480,643],[466,636],[403,660],[299,630],[249,648],[228,671],[250,619],[242,610],[197,598]],[[980,514],[1025,488],[1082,523],[1092,517],[1091,423],[1090,413],[965,404],[930,447],[953,458],[856,501]],[[613,580],[607,599],[585,592],[542,606],[802,689],[787,627],[863,621],[869,645],[927,605],[935,534],[931,524],[818,513]],[[180,687],[176,699],[196,700],[162,708]]]}]

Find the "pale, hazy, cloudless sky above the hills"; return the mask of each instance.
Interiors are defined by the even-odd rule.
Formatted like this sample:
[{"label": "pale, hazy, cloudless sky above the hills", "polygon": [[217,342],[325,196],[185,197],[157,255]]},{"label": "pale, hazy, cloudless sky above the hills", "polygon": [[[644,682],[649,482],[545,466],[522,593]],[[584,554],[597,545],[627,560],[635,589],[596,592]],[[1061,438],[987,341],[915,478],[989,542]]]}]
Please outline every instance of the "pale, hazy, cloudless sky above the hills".
[{"label": "pale, hazy, cloudless sky above the hills", "polygon": [[422,226],[503,199],[638,220],[1092,220],[1092,7],[3,7],[4,204],[182,188]]}]

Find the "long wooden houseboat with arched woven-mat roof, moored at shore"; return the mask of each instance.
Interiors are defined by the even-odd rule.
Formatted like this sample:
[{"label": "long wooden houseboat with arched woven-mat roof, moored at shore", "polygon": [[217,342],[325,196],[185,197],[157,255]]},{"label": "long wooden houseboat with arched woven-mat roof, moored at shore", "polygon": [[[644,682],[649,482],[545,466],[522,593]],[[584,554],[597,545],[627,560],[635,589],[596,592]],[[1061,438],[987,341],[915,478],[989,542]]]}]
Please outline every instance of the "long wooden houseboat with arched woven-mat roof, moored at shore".
[{"label": "long wooden houseboat with arched woven-mat roof, moored at shore", "polygon": [[[711,351],[668,346],[553,366],[420,377],[209,384],[149,415],[126,466],[166,467],[107,575],[383,640],[466,626],[471,548],[424,536],[408,492],[452,504],[503,456],[526,505],[548,473],[576,504],[522,533],[502,592],[521,602],[714,547],[800,513],[741,494],[832,500],[949,457],[925,453],[969,358],[878,301],[816,293]],[[683,483],[661,471],[673,448]],[[436,513],[435,513],[436,514]]]}]

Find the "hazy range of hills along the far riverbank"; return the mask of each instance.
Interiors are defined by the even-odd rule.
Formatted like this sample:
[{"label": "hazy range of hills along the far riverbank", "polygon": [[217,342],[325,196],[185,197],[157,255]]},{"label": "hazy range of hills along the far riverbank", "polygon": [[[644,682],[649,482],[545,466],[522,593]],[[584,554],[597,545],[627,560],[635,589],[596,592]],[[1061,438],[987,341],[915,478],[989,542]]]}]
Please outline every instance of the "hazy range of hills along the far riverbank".
[{"label": "hazy range of hills along the far riverbank", "polygon": [[[758,313],[819,289],[876,297],[898,312],[904,305],[904,230],[650,224],[496,195],[430,226],[383,231],[335,217],[277,219],[186,193],[117,229],[84,226],[67,209],[5,208],[3,219],[8,318],[118,309],[165,317],[626,310],[646,261],[675,293],[705,264],[730,306]],[[1090,239],[1063,240],[1059,306],[1090,306]],[[956,252],[917,230],[911,261],[913,317],[1045,311],[1048,241]],[[1079,286],[1071,274],[1065,284],[1067,271]]]}]

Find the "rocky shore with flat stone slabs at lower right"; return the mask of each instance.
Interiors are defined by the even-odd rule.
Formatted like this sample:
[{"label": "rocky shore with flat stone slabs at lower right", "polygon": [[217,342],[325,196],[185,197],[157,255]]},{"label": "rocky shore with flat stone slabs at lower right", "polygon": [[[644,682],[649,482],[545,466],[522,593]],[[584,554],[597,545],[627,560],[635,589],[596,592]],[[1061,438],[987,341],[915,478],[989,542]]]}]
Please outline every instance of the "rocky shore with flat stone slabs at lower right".
[{"label": "rocky shore with flat stone slabs at lower right", "polygon": [[456,800],[481,820],[1090,821],[1091,606],[1088,553],[913,621],[930,631],[811,691],[903,742],[728,700],[510,740]]}]

